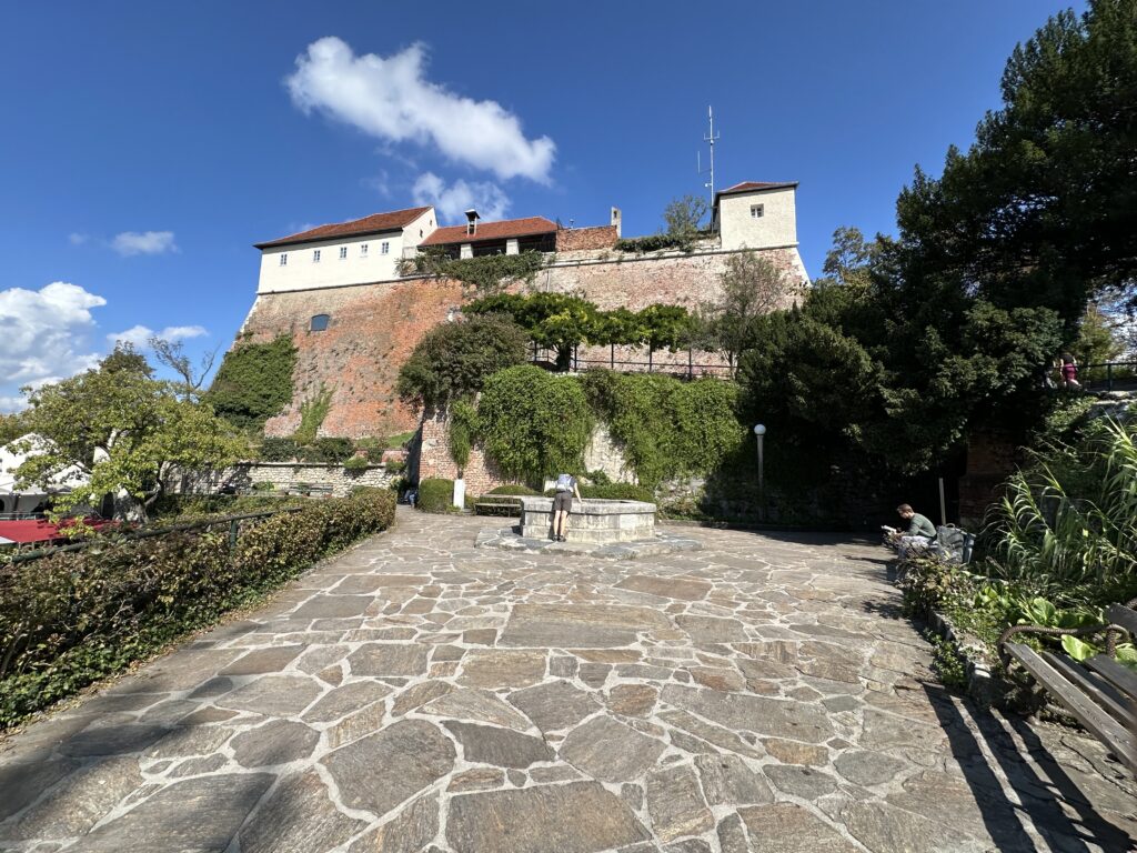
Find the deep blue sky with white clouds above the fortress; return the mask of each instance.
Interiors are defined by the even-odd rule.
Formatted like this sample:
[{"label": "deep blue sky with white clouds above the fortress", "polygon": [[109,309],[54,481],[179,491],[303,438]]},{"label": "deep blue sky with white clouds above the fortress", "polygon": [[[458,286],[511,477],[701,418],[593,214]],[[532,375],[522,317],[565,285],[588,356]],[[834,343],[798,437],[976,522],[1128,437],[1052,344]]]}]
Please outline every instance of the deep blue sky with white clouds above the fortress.
[{"label": "deep blue sky with white clouds above the fortress", "polygon": [[800,181],[816,275],[838,225],[893,231],[913,166],[971,142],[1014,44],[1067,6],[15,5],[0,411],[116,334],[227,347],[250,243],[306,225],[438,199],[578,225],[616,205],[654,232],[703,191],[708,103],[720,187]]}]

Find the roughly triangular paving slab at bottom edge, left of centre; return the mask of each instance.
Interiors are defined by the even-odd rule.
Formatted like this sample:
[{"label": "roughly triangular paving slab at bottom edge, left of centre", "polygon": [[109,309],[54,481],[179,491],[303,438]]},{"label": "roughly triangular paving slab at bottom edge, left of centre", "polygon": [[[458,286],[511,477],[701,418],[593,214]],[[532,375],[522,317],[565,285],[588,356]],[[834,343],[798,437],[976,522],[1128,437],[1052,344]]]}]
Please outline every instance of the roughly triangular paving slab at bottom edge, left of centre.
[{"label": "roughly triangular paving slab at bottom edge, left of centre", "polygon": [[314,770],[290,776],[241,829],[241,853],[331,850],[367,825],[340,812]]}]

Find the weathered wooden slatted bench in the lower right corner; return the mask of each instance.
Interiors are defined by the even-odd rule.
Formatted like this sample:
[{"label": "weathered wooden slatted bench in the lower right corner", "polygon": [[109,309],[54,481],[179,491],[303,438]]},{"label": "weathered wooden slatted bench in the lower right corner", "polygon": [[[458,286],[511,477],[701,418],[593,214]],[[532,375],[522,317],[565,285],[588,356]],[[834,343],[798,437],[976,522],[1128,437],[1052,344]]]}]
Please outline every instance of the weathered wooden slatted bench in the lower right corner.
[{"label": "weathered wooden slatted bench in the lower right corner", "polygon": [[[1109,624],[1084,628],[1041,628],[1013,626],[999,637],[999,657],[1005,666],[1012,660],[1022,665],[1047,693],[1105,744],[1122,763],[1137,773],[1137,672],[1114,660],[1117,639],[1137,637],[1137,599],[1128,605],[1113,604],[1105,610]],[[1064,654],[1036,652],[1022,643],[1012,643],[1015,633],[1038,632],[1049,636],[1105,635],[1106,654],[1079,663]]]}]

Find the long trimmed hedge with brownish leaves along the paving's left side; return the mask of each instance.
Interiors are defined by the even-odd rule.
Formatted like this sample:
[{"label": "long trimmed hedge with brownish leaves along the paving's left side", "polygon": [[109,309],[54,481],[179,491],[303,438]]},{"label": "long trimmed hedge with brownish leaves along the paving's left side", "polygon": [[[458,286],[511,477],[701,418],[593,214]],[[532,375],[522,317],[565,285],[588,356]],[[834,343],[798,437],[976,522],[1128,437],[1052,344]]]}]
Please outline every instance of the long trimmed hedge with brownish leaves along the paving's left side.
[{"label": "long trimmed hedge with brownish leaves along the paving's left side", "polygon": [[0,729],[121,672],[395,520],[395,495],[360,490],[227,525],[0,564]]}]

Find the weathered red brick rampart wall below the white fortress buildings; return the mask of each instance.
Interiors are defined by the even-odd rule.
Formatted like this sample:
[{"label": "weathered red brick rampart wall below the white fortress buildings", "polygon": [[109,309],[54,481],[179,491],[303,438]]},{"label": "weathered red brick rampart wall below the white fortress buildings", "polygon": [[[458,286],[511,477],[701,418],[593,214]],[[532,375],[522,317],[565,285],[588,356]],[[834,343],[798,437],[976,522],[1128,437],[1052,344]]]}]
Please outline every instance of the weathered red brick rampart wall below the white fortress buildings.
[{"label": "weathered red brick rampart wall below the white fortress buildings", "polygon": [[[599,240],[601,232],[614,235],[615,229],[576,229],[567,233]],[[794,250],[771,249],[763,254],[797,275]],[[553,266],[538,273],[532,287],[580,292],[601,309],[640,310],[656,303],[695,309],[720,298],[719,274],[727,257],[706,250],[636,256],[579,249],[572,257],[558,254]],[[399,366],[423,334],[443,322],[453,309],[460,308],[462,303],[459,282],[421,278],[257,297],[242,336],[267,341],[290,334],[298,350],[292,404],[269,419],[266,434],[291,434],[300,423],[300,403],[315,395],[322,383],[332,389],[332,406],[321,434],[363,438],[413,430],[416,413],[395,394]],[[308,331],[315,314],[331,315],[326,331]],[[586,347],[580,355],[603,361],[609,351],[607,347]],[[647,350],[617,348],[616,357],[647,361]],[[656,353],[654,358],[656,364],[671,364],[678,371],[686,370],[687,359],[687,353]],[[696,354],[695,361],[721,363],[711,354]]]}]

